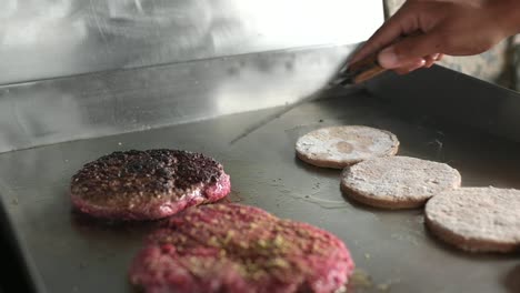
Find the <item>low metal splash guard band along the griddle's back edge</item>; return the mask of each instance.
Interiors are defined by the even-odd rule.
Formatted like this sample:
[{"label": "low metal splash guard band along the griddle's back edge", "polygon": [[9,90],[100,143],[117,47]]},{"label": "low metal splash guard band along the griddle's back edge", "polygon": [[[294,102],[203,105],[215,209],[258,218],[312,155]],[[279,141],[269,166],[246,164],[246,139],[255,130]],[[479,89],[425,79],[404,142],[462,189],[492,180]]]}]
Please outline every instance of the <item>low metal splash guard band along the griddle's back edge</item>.
[{"label": "low metal splash guard band along the griddle's back edge", "polygon": [[0,87],[0,152],[293,103],[326,84],[353,48],[286,50]]}]

